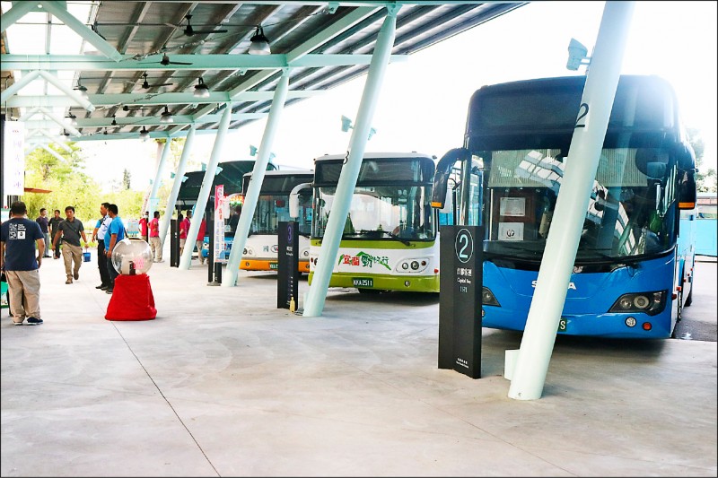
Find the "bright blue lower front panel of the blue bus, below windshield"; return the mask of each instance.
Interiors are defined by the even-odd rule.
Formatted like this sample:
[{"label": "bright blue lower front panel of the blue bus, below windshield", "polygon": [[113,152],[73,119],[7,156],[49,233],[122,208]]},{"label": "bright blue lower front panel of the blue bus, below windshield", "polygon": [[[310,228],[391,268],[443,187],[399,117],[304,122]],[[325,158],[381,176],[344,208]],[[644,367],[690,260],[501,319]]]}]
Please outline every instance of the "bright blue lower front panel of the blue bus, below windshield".
[{"label": "bright blue lower front panel of the blue bus, below windshield", "polygon": [[[625,266],[610,273],[572,274],[562,324],[559,325],[565,328],[558,333],[622,338],[670,337],[676,320],[671,300],[674,266],[673,256],[666,256],[646,261],[639,268]],[[495,294],[500,307],[484,306],[483,325],[523,330],[537,278],[536,271],[499,268],[485,261],[484,287]],[[609,312],[623,294],[654,291],[665,291],[665,307],[656,315],[649,316],[641,311]],[[635,324],[629,317],[635,318]]]}]

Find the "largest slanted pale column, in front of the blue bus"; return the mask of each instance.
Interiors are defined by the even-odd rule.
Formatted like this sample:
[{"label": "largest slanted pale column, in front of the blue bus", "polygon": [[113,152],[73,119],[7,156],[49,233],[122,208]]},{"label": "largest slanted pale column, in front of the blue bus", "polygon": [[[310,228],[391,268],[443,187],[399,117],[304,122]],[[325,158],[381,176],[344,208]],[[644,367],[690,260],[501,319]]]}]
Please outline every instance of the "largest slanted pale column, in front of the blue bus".
[{"label": "largest slanted pale column, in front of the blue bus", "polygon": [[[596,48],[583,88],[584,127],[576,127],[568,150],[565,174],[556,199],[554,222],[548,230],[521,348],[513,369],[509,397],[541,397],[556,330],[564,309],[583,220],[598,169],[600,151],[616,96],[634,2],[606,2]],[[583,107],[585,105],[585,107]],[[556,221],[556,218],[559,221]]]}]

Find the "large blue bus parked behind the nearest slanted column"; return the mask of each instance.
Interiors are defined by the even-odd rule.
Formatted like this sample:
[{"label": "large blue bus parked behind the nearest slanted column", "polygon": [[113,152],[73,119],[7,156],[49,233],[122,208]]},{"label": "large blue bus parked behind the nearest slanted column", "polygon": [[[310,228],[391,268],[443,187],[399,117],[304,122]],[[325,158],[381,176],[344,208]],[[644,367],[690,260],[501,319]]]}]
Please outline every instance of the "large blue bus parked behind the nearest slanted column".
[{"label": "large blue bus parked behind the nearest slanted column", "polygon": [[[483,326],[526,325],[565,164],[582,161],[567,152],[584,83],[482,87],[464,146],[437,164],[433,206],[485,231]],[[695,247],[680,213],[696,205],[695,161],[670,84],[621,76],[558,334],[673,335],[691,297]]]}]

